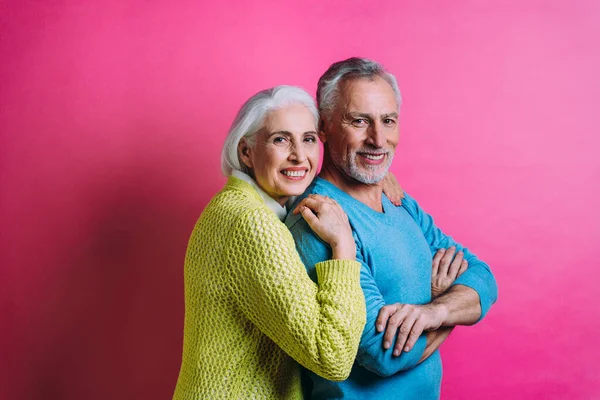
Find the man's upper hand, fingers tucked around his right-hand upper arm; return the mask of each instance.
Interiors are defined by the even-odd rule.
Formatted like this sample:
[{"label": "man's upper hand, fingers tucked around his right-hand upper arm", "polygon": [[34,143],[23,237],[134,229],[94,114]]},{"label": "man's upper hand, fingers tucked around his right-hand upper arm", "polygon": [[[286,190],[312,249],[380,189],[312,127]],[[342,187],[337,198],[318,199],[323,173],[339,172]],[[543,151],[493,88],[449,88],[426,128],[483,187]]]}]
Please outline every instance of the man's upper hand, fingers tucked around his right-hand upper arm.
[{"label": "man's upper hand, fingers tucked around his right-hand upper arm", "polygon": [[463,259],[463,252],[459,251],[454,257],[456,247],[452,246],[448,249],[439,249],[431,263],[431,299],[435,299],[444,293],[452,283],[463,272],[466,271],[469,263]]}]

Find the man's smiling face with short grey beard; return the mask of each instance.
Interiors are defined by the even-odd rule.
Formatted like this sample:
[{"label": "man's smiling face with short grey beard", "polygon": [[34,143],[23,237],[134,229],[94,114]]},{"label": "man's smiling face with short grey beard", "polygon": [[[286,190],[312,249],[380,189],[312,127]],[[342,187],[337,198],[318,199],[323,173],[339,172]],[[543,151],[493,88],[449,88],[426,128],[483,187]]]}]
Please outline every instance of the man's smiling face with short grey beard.
[{"label": "man's smiling face with short grey beard", "polygon": [[342,83],[337,108],[320,136],[346,178],[379,182],[392,164],[400,138],[392,87],[380,77]]}]

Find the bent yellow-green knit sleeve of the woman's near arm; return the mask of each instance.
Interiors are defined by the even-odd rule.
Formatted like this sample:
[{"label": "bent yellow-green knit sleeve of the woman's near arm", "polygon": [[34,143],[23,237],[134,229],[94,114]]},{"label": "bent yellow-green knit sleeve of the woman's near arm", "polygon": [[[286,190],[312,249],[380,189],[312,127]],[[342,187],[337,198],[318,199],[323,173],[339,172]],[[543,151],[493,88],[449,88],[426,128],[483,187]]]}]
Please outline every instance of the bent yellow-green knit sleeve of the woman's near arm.
[{"label": "bent yellow-green knit sleeve of the woman's near arm", "polygon": [[346,379],[365,324],[360,264],[318,263],[315,284],[285,225],[262,209],[240,218],[227,246],[224,267],[244,314],[304,367]]}]

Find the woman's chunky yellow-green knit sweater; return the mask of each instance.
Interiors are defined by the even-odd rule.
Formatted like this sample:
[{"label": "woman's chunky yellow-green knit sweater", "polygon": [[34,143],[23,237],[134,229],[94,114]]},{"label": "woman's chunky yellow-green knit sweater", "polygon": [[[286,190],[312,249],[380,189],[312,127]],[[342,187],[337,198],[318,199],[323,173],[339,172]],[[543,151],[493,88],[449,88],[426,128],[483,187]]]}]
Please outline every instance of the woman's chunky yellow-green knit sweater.
[{"label": "woman's chunky yellow-green knit sweater", "polygon": [[365,324],[360,264],[316,269],[319,285],[285,225],[250,184],[230,177],[188,244],[174,399],[301,398],[296,361],[346,379]]}]

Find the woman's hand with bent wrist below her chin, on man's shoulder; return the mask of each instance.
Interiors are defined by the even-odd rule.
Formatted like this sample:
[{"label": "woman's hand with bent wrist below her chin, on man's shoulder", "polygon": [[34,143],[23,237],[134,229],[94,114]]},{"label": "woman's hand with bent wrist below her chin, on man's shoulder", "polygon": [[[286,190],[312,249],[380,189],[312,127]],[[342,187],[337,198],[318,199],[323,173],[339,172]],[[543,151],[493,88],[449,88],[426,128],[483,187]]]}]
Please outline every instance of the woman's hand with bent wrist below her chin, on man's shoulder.
[{"label": "woman's hand with bent wrist below her chin, on man's shoulder", "polygon": [[334,259],[356,259],[356,244],[348,216],[333,199],[319,194],[309,194],[293,211],[302,213],[311,229],[327,242]]}]

